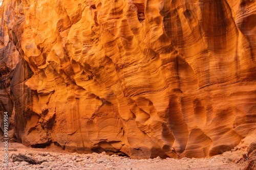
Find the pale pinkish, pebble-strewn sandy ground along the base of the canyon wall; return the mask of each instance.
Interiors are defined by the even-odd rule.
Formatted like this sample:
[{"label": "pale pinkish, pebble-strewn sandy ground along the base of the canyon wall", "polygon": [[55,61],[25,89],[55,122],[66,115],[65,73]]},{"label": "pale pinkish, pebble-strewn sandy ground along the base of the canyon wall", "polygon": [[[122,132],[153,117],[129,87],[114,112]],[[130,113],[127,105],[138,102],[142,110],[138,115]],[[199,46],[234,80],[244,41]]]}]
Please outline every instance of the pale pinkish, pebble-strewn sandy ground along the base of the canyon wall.
[{"label": "pale pinkish, pebble-strewn sandy ground along the base of the canyon wall", "polygon": [[119,157],[116,155],[105,155],[101,154],[78,154],[69,153],[61,150],[54,149],[35,149],[27,148],[20,143],[9,143],[8,155],[25,154],[26,156],[32,157],[35,160],[46,160],[41,164],[32,165],[27,162],[12,162],[9,158],[8,166],[4,165],[4,144],[1,142],[1,165],[0,169],[146,169],[146,170],[161,170],[161,169],[244,169],[247,162],[244,162],[242,155],[245,154],[245,150],[237,148],[233,152],[225,152],[222,155],[217,155],[212,158],[201,158],[201,159],[143,159],[133,160],[127,157]]}]

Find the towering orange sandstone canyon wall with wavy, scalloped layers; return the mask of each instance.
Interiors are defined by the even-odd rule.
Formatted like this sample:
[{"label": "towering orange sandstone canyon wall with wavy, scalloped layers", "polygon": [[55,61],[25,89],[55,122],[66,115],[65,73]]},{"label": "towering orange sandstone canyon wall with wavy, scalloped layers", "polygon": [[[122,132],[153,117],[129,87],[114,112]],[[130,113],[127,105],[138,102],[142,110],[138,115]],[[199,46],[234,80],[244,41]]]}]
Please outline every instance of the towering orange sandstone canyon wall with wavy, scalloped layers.
[{"label": "towering orange sandstone canyon wall with wavy, scalloped layers", "polygon": [[4,0],[0,121],[31,147],[230,150],[256,126],[255,4]]}]

